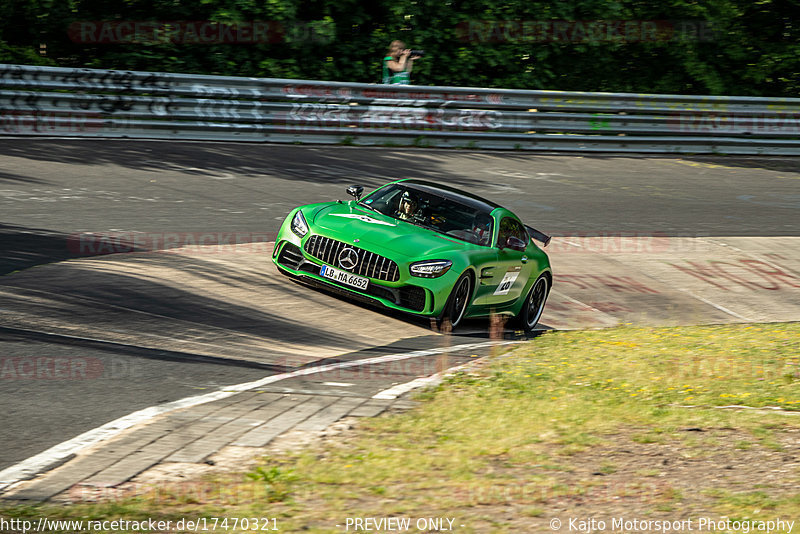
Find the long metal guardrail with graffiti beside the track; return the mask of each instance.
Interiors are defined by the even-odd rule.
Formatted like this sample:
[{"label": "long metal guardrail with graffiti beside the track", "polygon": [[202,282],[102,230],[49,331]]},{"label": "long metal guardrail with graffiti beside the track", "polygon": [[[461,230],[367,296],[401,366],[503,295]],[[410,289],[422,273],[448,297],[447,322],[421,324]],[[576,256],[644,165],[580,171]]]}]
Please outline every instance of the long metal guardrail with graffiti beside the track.
[{"label": "long metal guardrail with graffiti beside the track", "polygon": [[800,155],[800,98],[375,85],[0,64],[0,134]]}]

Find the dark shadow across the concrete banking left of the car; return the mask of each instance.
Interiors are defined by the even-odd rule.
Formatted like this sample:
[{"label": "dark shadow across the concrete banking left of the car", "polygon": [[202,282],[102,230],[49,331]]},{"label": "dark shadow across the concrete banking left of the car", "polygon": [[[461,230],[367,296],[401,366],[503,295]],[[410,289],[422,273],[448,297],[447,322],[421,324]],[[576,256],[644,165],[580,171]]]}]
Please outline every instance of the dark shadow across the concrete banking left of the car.
[{"label": "dark shadow across the concrete banking left of the car", "polygon": [[[58,242],[53,238],[53,243]],[[115,255],[110,262],[114,265],[109,268],[100,261],[68,262],[53,269],[37,269],[36,273],[6,276],[0,278],[0,288],[8,288],[19,306],[26,306],[28,298],[41,299],[41,307],[32,308],[35,315],[44,313],[69,324],[103,327],[129,335],[146,337],[155,333],[202,341],[214,337],[210,333],[213,329],[216,335],[234,334],[232,342],[236,342],[236,334],[242,334],[265,343],[320,340],[331,347],[351,346],[347,336],[288,320],[280,309],[273,311],[260,302],[259,280],[265,281],[262,273],[230,265],[222,269],[216,262],[169,252]],[[177,279],[162,281],[157,276],[143,276],[144,272],[170,272]],[[182,273],[211,281],[216,293],[185,283]],[[243,286],[252,292],[252,305],[223,296],[226,291]],[[295,292],[291,286],[284,289],[280,285],[273,285],[271,290],[286,295]],[[5,307],[10,308],[11,304]]]}]

